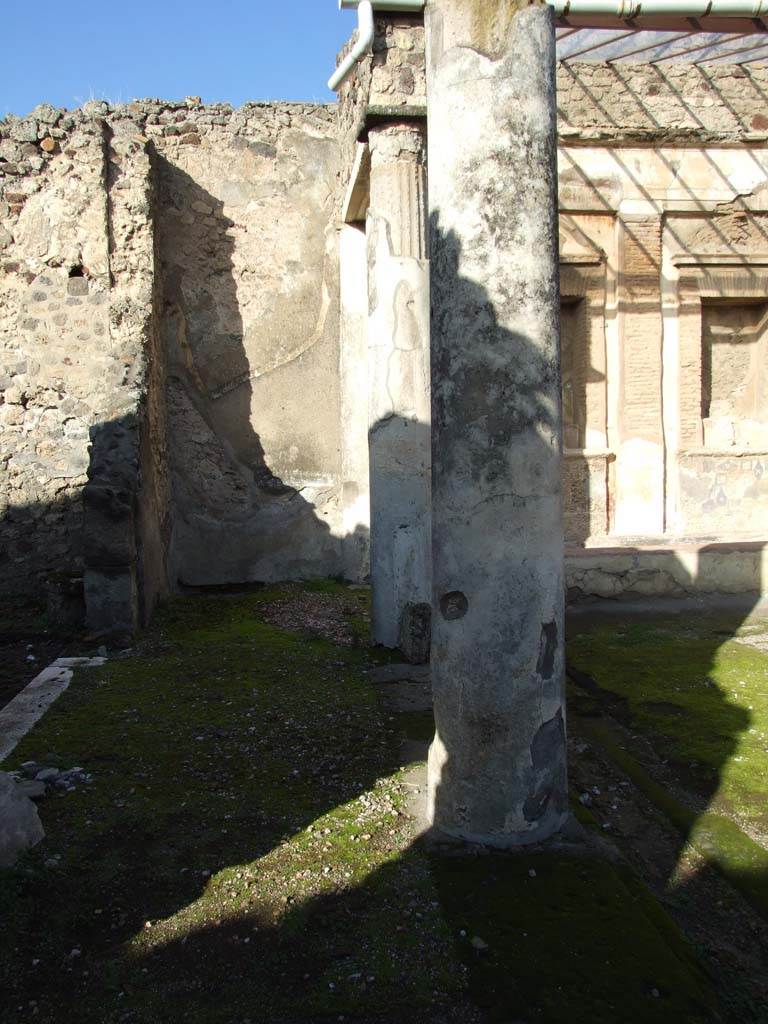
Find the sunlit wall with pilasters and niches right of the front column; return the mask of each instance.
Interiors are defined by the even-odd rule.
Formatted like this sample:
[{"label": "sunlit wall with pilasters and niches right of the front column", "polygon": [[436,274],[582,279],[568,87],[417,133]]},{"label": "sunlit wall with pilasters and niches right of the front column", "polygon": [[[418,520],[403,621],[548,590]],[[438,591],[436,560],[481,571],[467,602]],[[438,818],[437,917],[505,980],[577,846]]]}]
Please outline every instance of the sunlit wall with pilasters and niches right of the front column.
[{"label": "sunlit wall with pilasters and niches right of the front column", "polygon": [[574,594],[765,588],[767,86],[757,67],[558,70],[564,280],[572,222],[577,258],[607,257],[607,471],[566,459]]}]

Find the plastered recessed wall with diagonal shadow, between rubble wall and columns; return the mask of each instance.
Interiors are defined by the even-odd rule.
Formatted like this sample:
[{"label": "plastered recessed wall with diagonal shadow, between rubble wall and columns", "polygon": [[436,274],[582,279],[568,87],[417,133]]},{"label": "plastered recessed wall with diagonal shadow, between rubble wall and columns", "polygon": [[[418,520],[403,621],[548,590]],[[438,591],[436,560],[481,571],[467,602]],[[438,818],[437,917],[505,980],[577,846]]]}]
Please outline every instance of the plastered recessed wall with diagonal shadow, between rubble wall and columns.
[{"label": "plastered recessed wall with diagonal shadow, between rubble wall and columns", "polygon": [[180,115],[181,131],[172,112],[146,126],[174,573],[190,585],[333,574],[344,535],[334,114]]}]

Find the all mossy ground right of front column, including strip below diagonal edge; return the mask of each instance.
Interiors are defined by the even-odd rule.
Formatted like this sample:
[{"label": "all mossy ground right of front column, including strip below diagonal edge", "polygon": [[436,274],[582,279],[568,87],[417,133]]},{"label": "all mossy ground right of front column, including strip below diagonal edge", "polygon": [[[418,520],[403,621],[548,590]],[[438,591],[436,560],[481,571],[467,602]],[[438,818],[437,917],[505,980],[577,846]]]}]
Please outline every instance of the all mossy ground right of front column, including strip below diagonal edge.
[{"label": "all mossy ground right of front column, including strip below diagonal edge", "polygon": [[[768,920],[768,851],[755,839],[768,835],[768,653],[735,639],[766,629],[724,613],[601,622],[568,657],[599,687],[571,692],[580,730]],[[601,716],[610,697],[628,732]],[[655,774],[632,737],[659,756]]]}]

